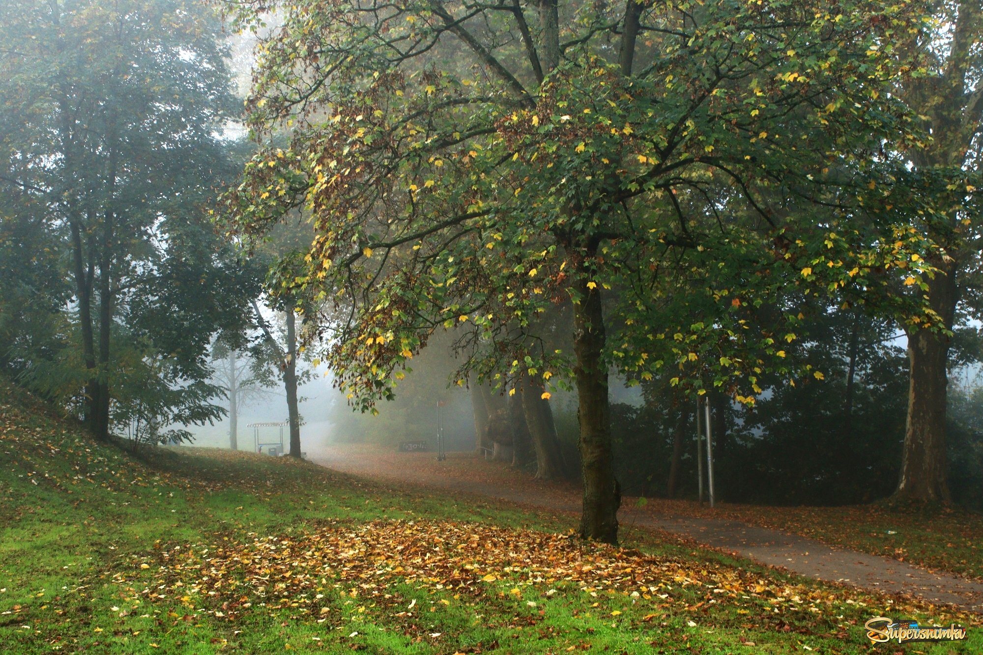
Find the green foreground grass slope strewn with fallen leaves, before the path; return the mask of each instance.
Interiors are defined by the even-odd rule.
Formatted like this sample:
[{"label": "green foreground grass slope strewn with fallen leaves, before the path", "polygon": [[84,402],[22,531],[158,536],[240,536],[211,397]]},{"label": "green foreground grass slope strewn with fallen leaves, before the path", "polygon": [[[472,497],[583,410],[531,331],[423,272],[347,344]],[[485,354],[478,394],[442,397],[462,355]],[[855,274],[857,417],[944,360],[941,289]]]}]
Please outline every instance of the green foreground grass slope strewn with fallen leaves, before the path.
[{"label": "green foreground grass slope strewn with fallen leaves, before the path", "polygon": [[142,462],[0,382],[5,652],[860,653],[874,616],[975,621],[568,521],[251,454]]}]

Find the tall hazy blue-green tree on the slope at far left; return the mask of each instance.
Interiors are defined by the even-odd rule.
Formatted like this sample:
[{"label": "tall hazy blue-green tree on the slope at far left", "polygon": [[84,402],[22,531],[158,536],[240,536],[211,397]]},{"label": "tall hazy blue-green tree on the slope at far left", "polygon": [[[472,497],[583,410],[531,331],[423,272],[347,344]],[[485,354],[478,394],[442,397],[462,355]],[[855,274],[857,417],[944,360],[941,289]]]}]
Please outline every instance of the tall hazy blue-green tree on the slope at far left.
[{"label": "tall hazy blue-green tree on the slope at far left", "polygon": [[[31,302],[64,311],[70,298],[58,351],[22,350],[18,366],[78,399],[98,439],[154,407],[157,422],[215,418],[200,388],[208,344],[255,294],[205,212],[232,165],[218,137],[234,106],[221,30],[185,0],[0,4],[0,185],[19,225],[56,244],[42,259],[58,282],[34,284]],[[135,380],[166,387],[170,409],[124,402]]]}]

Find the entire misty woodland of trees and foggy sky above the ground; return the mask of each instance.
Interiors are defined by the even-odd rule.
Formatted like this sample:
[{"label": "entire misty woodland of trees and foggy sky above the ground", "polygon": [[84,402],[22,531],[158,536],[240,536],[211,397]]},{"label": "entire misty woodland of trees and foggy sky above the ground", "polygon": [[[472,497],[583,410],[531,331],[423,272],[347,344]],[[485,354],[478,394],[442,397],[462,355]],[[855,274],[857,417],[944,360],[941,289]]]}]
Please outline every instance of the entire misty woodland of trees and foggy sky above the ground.
[{"label": "entire misty woodland of trees and foggy sky above the ground", "polygon": [[601,541],[698,431],[725,501],[981,508],[981,14],[0,0],[0,371],[134,448],[446,401]]}]

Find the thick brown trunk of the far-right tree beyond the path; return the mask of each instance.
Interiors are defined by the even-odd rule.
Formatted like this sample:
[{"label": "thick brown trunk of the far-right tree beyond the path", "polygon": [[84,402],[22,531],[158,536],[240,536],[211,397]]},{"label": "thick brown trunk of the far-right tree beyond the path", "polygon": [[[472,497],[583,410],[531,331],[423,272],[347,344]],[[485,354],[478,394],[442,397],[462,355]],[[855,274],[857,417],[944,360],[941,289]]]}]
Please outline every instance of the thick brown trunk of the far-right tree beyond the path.
[{"label": "thick brown trunk of the far-right tree beyond the path", "polygon": [[[953,326],[956,300],[953,263],[934,263],[940,271],[928,281],[932,309]],[[904,451],[895,497],[906,501],[948,503],[946,462],[946,387],[949,337],[927,329],[908,331],[908,414]]]}]

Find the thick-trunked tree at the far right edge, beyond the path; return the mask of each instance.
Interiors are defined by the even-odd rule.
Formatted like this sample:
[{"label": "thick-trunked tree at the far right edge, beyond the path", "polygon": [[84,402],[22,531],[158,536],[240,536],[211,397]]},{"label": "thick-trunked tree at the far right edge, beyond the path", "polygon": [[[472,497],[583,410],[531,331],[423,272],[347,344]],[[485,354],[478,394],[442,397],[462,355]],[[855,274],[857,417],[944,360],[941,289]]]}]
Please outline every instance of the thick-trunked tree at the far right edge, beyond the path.
[{"label": "thick-trunked tree at the far right edge, beyond the path", "polygon": [[[927,61],[925,75],[905,80],[900,95],[918,110],[918,120],[931,134],[925,148],[903,153],[923,176],[957,180],[966,172],[979,179],[983,164],[983,7],[978,0],[933,1],[934,22],[927,22],[898,44]],[[956,191],[971,194],[965,181]],[[975,182],[979,184],[979,182]],[[983,221],[979,208],[953,203],[925,221],[928,235],[941,246],[930,263],[936,272],[918,275],[918,293],[928,296],[944,327],[956,326],[960,303],[980,303],[980,252]],[[908,336],[910,360],[908,409],[903,457],[896,496],[915,501],[948,501],[946,407],[950,335],[924,329],[900,317]]]}]

